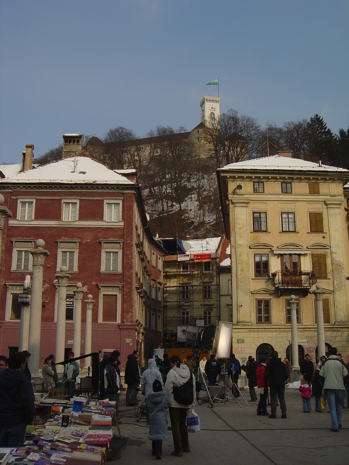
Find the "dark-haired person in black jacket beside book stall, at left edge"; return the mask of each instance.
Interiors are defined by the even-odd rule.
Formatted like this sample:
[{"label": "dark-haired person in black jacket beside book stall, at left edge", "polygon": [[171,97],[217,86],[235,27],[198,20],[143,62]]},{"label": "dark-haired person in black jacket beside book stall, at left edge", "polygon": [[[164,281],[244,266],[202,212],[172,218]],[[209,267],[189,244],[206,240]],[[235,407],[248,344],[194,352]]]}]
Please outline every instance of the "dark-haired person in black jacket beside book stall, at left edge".
[{"label": "dark-haired person in black jacket beside book stall, at left edge", "polygon": [[15,352],[8,359],[7,370],[0,372],[0,447],[21,447],[26,425],[34,420],[35,397],[25,366],[23,353]]}]

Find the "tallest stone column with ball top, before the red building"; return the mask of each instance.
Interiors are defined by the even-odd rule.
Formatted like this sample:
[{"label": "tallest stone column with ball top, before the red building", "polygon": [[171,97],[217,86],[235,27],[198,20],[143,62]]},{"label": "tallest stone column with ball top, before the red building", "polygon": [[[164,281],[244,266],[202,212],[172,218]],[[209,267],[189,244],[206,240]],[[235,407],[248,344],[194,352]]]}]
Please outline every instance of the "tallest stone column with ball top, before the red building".
[{"label": "tallest stone column with ball top, before the red building", "polygon": [[41,306],[42,306],[42,276],[44,262],[50,252],[44,250],[45,242],[38,239],[35,242],[37,249],[32,249],[33,256],[33,283],[32,300],[30,304],[28,351],[31,353],[28,366],[32,373],[32,379],[40,379],[39,357],[40,357],[40,332],[41,332]]}]

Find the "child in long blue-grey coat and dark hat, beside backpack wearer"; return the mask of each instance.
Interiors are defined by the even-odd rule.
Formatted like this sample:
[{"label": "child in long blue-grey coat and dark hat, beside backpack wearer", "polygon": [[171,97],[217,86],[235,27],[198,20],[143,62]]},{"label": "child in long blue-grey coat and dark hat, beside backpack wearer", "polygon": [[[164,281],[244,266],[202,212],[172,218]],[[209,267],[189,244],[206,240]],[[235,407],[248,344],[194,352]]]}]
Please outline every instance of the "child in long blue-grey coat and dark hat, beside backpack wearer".
[{"label": "child in long blue-grey coat and dark hat, beside backpack wearer", "polygon": [[162,441],[170,437],[167,430],[166,409],[171,406],[171,401],[166,392],[162,391],[159,379],[155,379],[153,383],[153,392],[148,392],[146,405],[149,409],[148,439],[152,441],[152,455],[161,458]]}]

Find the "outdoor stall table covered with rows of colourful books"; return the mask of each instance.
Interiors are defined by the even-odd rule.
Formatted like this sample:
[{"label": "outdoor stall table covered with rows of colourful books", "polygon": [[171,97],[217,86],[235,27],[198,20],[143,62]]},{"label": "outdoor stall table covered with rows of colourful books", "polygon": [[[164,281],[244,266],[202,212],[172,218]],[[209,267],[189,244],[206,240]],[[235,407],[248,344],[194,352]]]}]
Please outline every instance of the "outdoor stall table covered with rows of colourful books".
[{"label": "outdoor stall table covered with rows of colourful books", "polygon": [[40,405],[51,409],[51,418],[28,425],[22,447],[0,448],[0,465],[103,465],[113,438],[112,421],[123,443],[115,402],[43,396]]}]

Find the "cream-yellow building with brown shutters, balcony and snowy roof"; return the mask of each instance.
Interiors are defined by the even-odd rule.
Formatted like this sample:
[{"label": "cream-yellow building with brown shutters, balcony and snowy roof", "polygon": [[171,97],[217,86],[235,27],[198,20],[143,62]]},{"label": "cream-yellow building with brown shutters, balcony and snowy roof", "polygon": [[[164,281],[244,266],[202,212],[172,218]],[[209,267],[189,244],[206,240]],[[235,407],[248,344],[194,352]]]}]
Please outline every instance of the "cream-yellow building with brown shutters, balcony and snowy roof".
[{"label": "cream-yellow building with brown shutters, balcony and snowy roof", "polygon": [[240,359],[291,339],[290,295],[297,300],[299,357],[317,358],[316,282],[325,291],[326,349],[349,360],[349,240],[343,184],[349,172],[293,159],[291,152],[217,170],[231,240],[233,347]]}]

